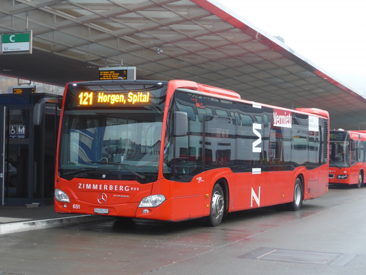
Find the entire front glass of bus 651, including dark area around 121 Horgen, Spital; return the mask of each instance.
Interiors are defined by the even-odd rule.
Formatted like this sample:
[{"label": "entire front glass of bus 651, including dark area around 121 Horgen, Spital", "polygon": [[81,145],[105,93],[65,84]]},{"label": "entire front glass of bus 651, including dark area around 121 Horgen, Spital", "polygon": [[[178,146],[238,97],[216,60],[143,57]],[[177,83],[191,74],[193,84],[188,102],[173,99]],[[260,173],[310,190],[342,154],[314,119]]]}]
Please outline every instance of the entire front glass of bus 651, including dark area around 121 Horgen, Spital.
[{"label": "entire front glass of bus 651, including dark area around 121 Horgen, Spital", "polygon": [[[101,175],[105,179],[138,180],[141,183],[156,180],[166,87],[149,90],[150,101],[140,106],[138,102],[113,106],[104,102],[99,106],[98,98],[92,96],[89,96],[93,100],[90,102],[95,104],[78,105],[79,102],[74,100],[78,94],[95,96],[101,89],[100,86],[92,88],[78,87],[68,91],[61,122],[59,175],[69,180],[73,177],[100,179]],[[112,94],[106,87],[102,88],[103,95]],[[139,92],[133,88],[118,91],[118,95],[126,95],[127,101],[128,93],[142,93],[141,88]],[[114,89],[113,95],[116,94]]]}]

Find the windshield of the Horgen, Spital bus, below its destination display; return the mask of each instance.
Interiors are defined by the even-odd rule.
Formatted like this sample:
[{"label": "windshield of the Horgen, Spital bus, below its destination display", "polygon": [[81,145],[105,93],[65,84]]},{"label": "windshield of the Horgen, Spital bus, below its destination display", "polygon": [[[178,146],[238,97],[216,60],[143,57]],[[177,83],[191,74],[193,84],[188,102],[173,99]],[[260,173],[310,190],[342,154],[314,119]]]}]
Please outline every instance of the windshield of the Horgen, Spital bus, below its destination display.
[{"label": "windshield of the Horgen, Spital bus, below its destination display", "polygon": [[60,143],[61,175],[76,175],[78,170],[87,169],[128,174],[126,167],[142,175],[157,176],[162,114],[67,111],[64,121],[67,123]]}]

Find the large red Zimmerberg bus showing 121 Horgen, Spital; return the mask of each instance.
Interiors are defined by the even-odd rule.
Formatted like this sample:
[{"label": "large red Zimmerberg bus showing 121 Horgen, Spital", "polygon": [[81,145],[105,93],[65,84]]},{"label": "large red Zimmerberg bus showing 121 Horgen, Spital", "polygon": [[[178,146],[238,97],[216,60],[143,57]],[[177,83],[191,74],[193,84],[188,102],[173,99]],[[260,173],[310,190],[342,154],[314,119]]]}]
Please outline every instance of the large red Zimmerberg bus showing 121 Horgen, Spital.
[{"label": "large red Zimmerberg bus showing 121 Horgen, Spital", "polygon": [[192,81],[69,83],[55,210],[211,226],[238,210],[296,211],[328,191],[328,124],[323,110],[254,103]]}]

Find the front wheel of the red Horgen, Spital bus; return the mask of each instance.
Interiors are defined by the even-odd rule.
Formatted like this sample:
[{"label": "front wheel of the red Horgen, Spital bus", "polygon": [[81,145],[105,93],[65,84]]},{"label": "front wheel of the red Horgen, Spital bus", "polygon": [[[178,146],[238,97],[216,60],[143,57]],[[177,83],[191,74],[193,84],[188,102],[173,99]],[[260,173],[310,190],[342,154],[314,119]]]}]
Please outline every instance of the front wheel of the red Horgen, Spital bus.
[{"label": "front wheel of the red Horgen, Spital bus", "polygon": [[221,188],[220,184],[215,184],[212,190],[211,196],[211,209],[210,216],[206,220],[207,225],[209,226],[217,226],[221,223],[221,220],[224,216],[225,209],[225,199],[224,199],[224,191]]}]

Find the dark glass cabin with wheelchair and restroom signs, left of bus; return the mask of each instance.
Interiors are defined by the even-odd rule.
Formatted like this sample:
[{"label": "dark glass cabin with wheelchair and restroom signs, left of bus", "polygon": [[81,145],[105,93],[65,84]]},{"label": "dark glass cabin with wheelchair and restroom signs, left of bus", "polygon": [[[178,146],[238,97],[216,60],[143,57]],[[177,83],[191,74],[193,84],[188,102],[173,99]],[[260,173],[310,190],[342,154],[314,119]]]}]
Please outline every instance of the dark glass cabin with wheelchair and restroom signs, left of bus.
[{"label": "dark glass cabin with wheelchair and restroom signs, left of bus", "polygon": [[42,123],[33,124],[34,104],[60,95],[0,94],[0,205],[53,203],[59,108],[47,104]]}]

